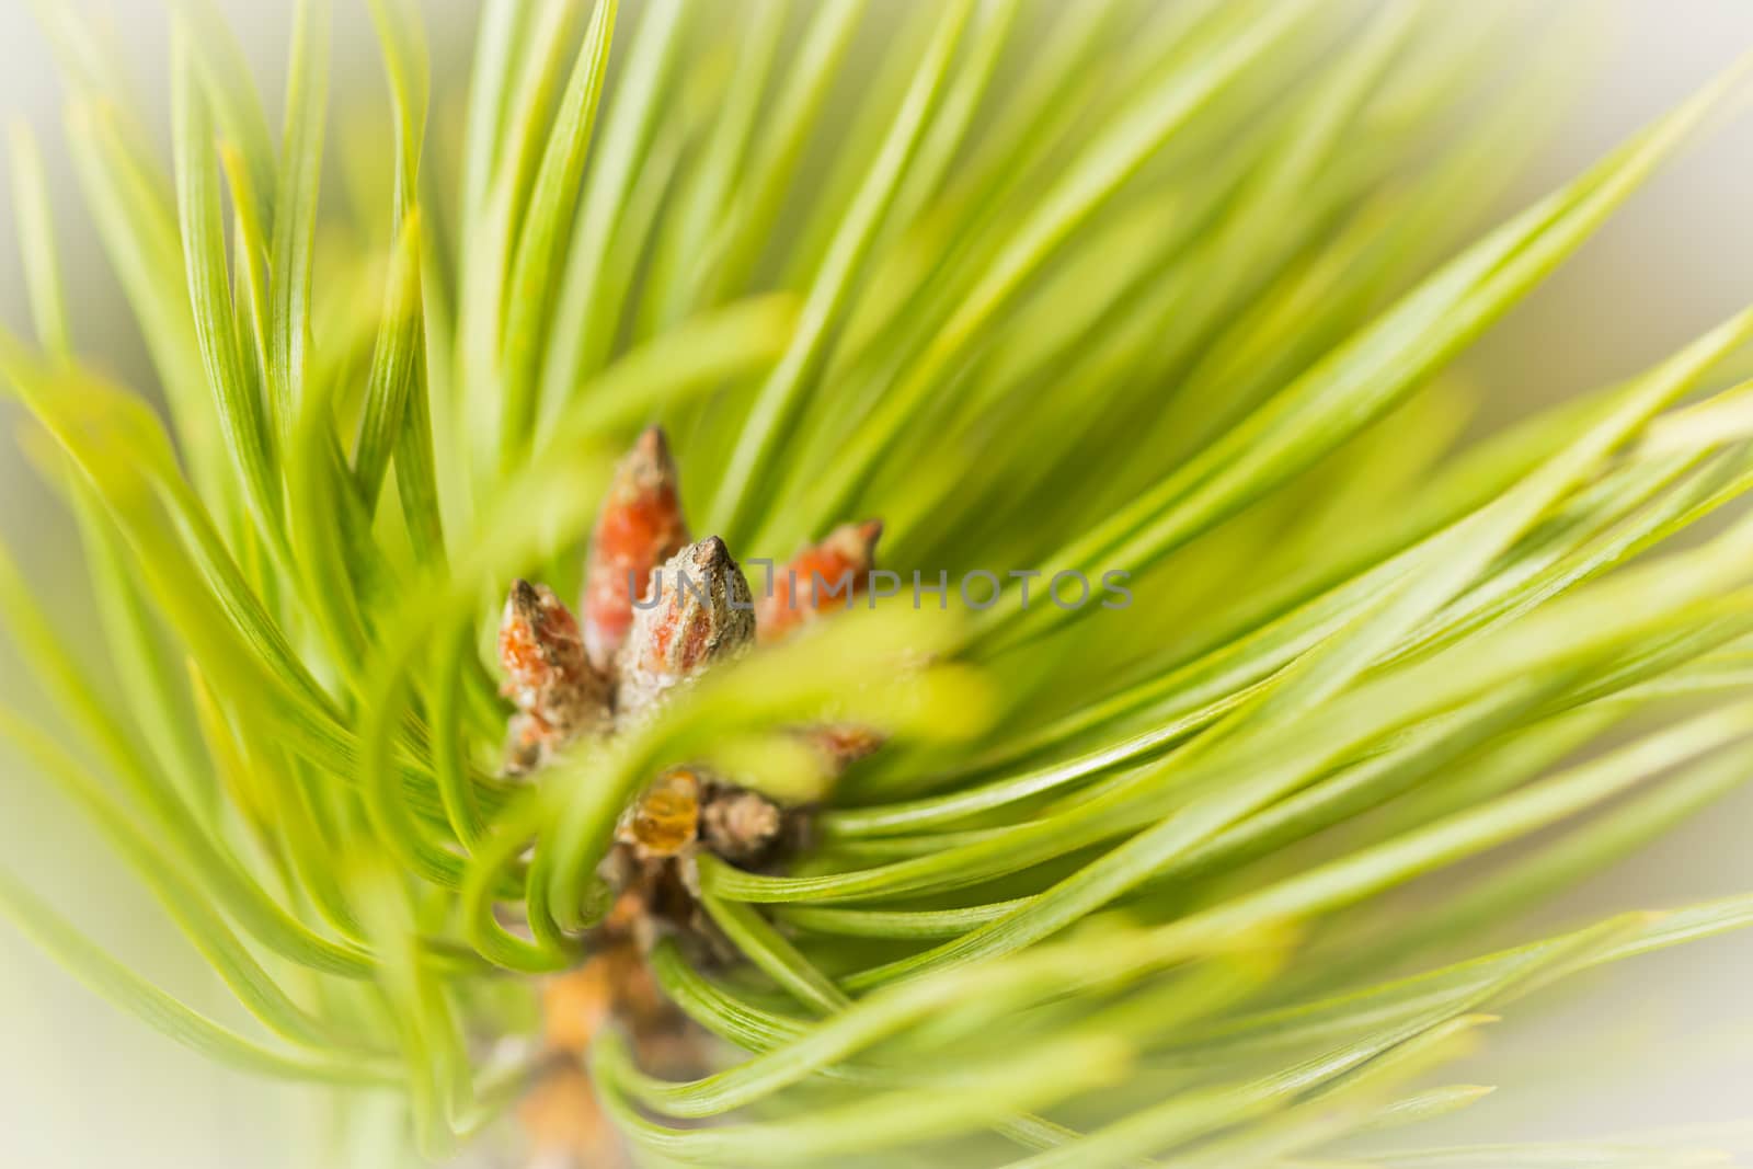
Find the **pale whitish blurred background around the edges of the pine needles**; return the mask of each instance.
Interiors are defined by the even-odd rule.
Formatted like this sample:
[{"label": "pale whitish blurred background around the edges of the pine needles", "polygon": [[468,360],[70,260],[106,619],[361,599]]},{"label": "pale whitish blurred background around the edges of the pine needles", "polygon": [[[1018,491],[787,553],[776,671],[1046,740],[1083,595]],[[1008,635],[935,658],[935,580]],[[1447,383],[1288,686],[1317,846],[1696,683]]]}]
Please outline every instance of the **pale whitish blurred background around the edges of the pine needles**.
[{"label": "pale whitish blurred background around the edges of the pine needles", "polygon": [[[61,0],[47,0],[56,4]],[[926,0],[915,0],[926,2]],[[1394,0],[1388,0],[1394,2]],[[1574,116],[1518,188],[1562,181],[1737,53],[1753,49],[1744,0],[1565,0],[1611,26],[1608,49]],[[81,5],[91,7],[91,5]],[[282,79],[289,0],[228,0],[265,91]],[[337,72],[377,86],[363,4],[337,5]],[[429,0],[444,21],[465,0]],[[163,121],[163,9],[156,0],[109,5],[137,58],[137,75]],[[1553,44],[1551,53],[1578,51]],[[375,89],[373,89],[375,93]],[[60,242],[81,340],[126,366],[138,342],[84,231],[58,144],[60,88],[23,0],[0,0],[0,114],[23,116],[47,140]],[[1753,300],[1753,117],[1716,131],[1660,175],[1630,207],[1487,338],[1467,363],[1499,401],[1532,400],[1618,379]],[[0,189],[0,319],[25,324],[9,196]],[[0,426],[12,429],[9,407]],[[9,545],[65,578],[74,552],[58,517],[7,442],[0,449],[0,531]],[[39,577],[40,580],[42,577]],[[77,594],[56,598],[77,620]],[[30,703],[0,650],[0,694]],[[32,776],[0,762],[0,854],[61,899],[91,932],[138,969],[198,1001],[217,1001],[200,962],[163,925],[121,869],[96,855],[89,832],[37,797]],[[1578,890],[1553,911],[1574,920],[1600,910],[1660,906],[1753,889],[1753,790]],[[1753,1120],[1753,936],[1643,959],[1592,980],[1583,994],[1522,1004],[1495,1029],[1464,1076],[1506,1090],[1443,1125],[1457,1141],[1569,1139],[1692,1122]],[[298,1134],[314,1094],[233,1076],[114,1013],[0,925],[0,1167],[128,1169],[319,1164]],[[1430,1134],[1439,1136],[1439,1134]],[[1749,1160],[1753,1164],[1753,1160]]]}]

